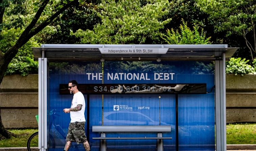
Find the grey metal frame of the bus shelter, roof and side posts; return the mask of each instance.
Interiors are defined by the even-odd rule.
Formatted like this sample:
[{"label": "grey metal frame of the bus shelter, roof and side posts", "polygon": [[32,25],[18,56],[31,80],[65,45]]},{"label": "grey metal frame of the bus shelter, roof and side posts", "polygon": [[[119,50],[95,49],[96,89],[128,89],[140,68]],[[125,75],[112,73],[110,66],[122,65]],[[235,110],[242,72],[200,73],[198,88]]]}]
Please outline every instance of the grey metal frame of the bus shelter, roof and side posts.
[{"label": "grey metal frame of the bus shelter, roof and side posts", "polygon": [[[216,151],[226,151],[226,76],[225,61],[238,48],[228,45],[87,45],[43,44],[32,48],[39,61],[39,150],[47,150],[48,61],[214,61]],[[111,50],[135,50],[116,53]],[[138,51],[136,51],[138,50]],[[143,52],[145,50],[145,52]],[[150,50],[150,51],[146,51]],[[151,51],[152,50],[152,51]]]}]

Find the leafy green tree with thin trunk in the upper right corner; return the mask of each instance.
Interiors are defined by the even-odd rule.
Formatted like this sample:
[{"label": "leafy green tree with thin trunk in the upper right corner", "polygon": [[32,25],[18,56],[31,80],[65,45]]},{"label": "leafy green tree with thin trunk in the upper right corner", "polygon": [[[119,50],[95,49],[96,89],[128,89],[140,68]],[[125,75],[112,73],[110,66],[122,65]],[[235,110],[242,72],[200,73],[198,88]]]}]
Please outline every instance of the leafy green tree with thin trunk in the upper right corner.
[{"label": "leafy green tree with thin trunk in the upper right corner", "polygon": [[241,35],[250,50],[256,53],[256,1],[255,0],[196,0],[196,6],[214,21],[214,31]]}]

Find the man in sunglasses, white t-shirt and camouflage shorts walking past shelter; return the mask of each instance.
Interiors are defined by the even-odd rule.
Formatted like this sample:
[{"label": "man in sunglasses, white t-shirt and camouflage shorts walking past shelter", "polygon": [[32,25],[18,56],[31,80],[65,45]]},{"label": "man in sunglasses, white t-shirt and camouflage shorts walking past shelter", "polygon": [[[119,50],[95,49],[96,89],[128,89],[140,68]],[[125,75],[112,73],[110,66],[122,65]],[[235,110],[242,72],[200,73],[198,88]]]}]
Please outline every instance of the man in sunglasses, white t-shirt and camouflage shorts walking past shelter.
[{"label": "man in sunglasses, white t-shirt and camouflage shorts walking past shelter", "polygon": [[68,89],[70,94],[74,94],[71,108],[63,109],[63,112],[70,113],[70,123],[68,127],[68,134],[66,137],[66,145],[64,151],[68,151],[71,143],[83,143],[86,151],[90,151],[90,145],[85,135],[85,97],[78,90],[78,83],[76,80],[69,81]]}]

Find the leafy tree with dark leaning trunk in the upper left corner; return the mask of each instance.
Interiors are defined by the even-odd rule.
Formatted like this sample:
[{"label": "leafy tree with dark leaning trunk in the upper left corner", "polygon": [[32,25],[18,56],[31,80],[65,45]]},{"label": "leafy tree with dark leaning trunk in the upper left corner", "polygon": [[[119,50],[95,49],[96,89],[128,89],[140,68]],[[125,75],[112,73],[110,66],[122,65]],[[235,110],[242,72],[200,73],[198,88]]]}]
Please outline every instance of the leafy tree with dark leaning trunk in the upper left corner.
[{"label": "leafy tree with dark leaning trunk in the upper left corner", "polygon": [[[11,60],[34,35],[42,31],[67,8],[78,0],[2,0],[0,1],[0,83]],[[82,1],[82,3],[85,3]],[[21,30],[20,32],[17,32]],[[17,34],[17,35],[15,35]],[[5,36],[4,36],[5,35]],[[0,116],[0,140],[13,135],[7,131]]]}]

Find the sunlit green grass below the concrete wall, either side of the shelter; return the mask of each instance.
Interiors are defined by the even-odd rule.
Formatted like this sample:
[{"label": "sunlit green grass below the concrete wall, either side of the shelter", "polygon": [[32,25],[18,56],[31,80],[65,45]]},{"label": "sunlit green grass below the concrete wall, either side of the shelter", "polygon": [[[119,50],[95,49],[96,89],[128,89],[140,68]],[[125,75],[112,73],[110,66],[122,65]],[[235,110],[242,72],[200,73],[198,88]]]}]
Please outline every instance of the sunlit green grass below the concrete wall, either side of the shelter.
[{"label": "sunlit green grass below the concrete wall, either side of the shelter", "polygon": [[[26,147],[29,136],[38,131],[37,129],[9,129],[18,135],[11,139],[1,140],[1,147]],[[256,144],[255,124],[228,124],[227,144]]]}]

